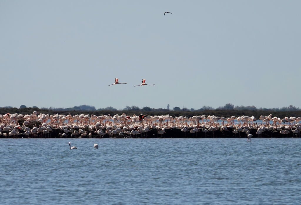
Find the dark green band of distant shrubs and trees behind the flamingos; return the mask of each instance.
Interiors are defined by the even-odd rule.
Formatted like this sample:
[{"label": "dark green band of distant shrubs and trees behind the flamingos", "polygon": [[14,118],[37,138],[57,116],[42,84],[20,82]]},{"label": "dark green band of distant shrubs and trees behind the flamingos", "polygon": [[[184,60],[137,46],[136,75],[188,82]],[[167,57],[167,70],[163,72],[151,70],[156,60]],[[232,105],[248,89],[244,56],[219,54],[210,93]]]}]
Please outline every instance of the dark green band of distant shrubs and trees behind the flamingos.
[{"label": "dark green band of distant shrubs and trees behind the flamingos", "polygon": [[[169,105],[167,105],[169,108]],[[0,114],[6,114],[6,113],[22,113],[22,114],[31,114],[33,111],[38,111],[39,113],[49,113],[49,114],[95,114],[95,115],[104,115],[104,114],[122,114],[126,113],[127,115],[133,115],[133,114],[148,114],[148,115],[165,115],[169,113],[169,115],[172,116],[194,116],[194,115],[216,115],[216,116],[224,116],[224,117],[231,117],[231,116],[255,116],[256,118],[259,118],[260,115],[267,116],[269,114],[272,114],[272,116],[278,116],[280,118],[284,118],[285,116],[301,116],[301,109],[299,107],[295,107],[293,105],[290,105],[288,107],[282,107],[282,108],[256,108],[255,106],[234,106],[231,103],[225,104],[225,106],[218,107],[214,109],[210,106],[203,106],[200,109],[188,109],[186,107],[183,107],[182,109],[180,107],[174,107],[171,109],[164,109],[164,108],[151,108],[151,107],[142,107],[139,108],[137,106],[126,106],[122,110],[117,110],[113,107],[105,107],[105,108],[99,108],[96,109],[94,106],[89,105],[80,105],[75,107],[69,107],[69,108],[54,108],[54,107],[41,107],[38,108],[36,106],[33,107],[26,107],[25,105],[21,105],[20,108],[16,107],[0,107]]]}]

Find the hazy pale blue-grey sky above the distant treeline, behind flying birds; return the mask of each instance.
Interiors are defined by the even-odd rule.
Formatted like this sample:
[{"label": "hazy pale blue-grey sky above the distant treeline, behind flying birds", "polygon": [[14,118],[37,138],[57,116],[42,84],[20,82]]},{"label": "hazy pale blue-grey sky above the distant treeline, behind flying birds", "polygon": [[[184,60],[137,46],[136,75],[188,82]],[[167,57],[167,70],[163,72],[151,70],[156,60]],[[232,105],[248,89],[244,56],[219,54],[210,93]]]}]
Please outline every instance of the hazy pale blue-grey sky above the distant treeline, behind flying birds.
[{"label": "hazy pale blue-grey sky above the distant treeline, behind flying birds", "polygon": [[300,8],[0,0],[0,107],[301,107]]}]

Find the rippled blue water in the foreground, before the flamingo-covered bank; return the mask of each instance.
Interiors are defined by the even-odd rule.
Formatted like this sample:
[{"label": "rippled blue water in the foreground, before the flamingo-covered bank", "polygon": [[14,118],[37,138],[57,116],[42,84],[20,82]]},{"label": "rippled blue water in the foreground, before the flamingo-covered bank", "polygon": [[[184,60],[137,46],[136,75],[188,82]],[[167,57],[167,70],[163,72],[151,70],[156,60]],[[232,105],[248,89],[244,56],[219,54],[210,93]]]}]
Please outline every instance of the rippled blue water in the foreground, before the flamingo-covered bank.
[{"label": "rippled blue water in the foreground, before the flamingo-covered bank", "polygon": [[[69,150],[69,141],[78,149]],[[300,144],[299,138],[0,139],[0,204],[295,205]]]}]

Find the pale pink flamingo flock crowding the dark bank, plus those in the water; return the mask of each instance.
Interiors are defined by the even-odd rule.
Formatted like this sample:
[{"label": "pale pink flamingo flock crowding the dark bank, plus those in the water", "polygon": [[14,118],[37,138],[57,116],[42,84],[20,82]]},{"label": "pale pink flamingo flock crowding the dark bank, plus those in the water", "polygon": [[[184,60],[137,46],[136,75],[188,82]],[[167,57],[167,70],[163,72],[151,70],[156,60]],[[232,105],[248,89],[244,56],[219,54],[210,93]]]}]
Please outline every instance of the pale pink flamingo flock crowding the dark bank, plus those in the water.
[{"label": "pale pink flamingo flock crowding the dark bank, plus those in the water", "polygon": [[[234,136],[245,133],[251,140],[250,131],[259,137],[264,132],[278,132],[279,134],[300,135],[301,117],[284,117],[272,115],[260,116],[260,122],[254,116],[231,116],[228,118],[214,115],[178,116],[166,115],[132,115],[125,113],[114,116],[94,114],[85,115],[49,115],[34,111],[32,114],[0,115],[0,137],[145,137],[150,131],[157,132],[163,137],[167,129],[176,129],[197,135],[197,132],[207,133],[214,131],[232,132]],[[22,122],[22,123],[20,123]],[[209,133],[210,134],[210,133]],[[98,145],[95,145],[98,147]],[[70,146],[71,149],[71,146]],[[75,148],[73,148],[75,149]]]}]

